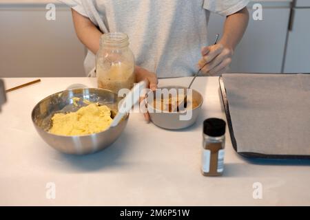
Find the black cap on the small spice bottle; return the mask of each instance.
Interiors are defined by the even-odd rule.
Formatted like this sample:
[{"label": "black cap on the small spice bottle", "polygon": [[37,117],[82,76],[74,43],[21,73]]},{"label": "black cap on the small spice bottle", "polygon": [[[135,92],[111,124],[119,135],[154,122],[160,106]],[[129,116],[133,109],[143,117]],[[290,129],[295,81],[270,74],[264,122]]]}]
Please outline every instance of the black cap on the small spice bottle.
[{"label": "black cap on the small spice bottle", "polygon": [[211,137],[225,135],[226,122],[219,118],[209,118],[203,122],[203,133]]}]

